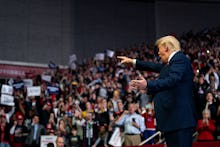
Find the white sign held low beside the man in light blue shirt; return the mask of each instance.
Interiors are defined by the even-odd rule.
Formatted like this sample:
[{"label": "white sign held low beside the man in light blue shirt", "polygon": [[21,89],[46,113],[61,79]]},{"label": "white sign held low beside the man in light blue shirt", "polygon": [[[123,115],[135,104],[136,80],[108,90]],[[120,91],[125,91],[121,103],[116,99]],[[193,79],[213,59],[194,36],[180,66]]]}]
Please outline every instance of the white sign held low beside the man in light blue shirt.
[{"label": "white sign held low beside the man in light blue shirt", "polygon": [[115,131],[113,132],[113,134],[112,134],[112,136],[111,136],[108,143],[112,146],[117,146],[117,147],[122,146],[121,135],[120,134],[121,133],[120,133],[119,127],[116,127]]}]

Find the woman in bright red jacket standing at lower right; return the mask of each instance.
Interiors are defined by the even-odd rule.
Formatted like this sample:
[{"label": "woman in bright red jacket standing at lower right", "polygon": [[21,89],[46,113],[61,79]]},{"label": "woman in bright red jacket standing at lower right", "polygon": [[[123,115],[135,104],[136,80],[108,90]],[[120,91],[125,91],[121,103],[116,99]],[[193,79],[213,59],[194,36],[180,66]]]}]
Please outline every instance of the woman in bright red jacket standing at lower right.
[{"label": "woman in bright red jacket standing at lower right", "polygon": [[202,114],[203,118],[198,120],[197,128],[198,141],[214,141],[215,121],[211,119],[209,109],[204,109]]}]

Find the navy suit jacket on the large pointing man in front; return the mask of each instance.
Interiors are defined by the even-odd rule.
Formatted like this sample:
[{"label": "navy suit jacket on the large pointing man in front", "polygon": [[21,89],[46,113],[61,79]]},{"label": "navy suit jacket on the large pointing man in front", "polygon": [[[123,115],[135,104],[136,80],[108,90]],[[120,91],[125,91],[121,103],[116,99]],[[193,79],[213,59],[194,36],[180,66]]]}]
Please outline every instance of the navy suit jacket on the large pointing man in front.
[{"label": "navy suit jacket on the large pointing man in front", "polygon": [[193,70],[189,59],[177,52],[169,64],[137,60],[136,68],[160,73],[147,81],[147,90],[154,94],[157,128],[163,132],[194,127]]}]

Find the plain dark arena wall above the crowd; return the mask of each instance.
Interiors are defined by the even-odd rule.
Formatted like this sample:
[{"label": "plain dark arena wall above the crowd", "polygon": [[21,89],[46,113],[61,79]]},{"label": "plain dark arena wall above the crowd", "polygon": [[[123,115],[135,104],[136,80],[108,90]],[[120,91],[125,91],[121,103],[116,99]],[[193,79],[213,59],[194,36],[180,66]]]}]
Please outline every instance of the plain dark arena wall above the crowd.
[{"label": "plain dark arena wall above the crowd", "polygon": [[0,60],[68,64],[220,25],[220,0],[0,0]]}]

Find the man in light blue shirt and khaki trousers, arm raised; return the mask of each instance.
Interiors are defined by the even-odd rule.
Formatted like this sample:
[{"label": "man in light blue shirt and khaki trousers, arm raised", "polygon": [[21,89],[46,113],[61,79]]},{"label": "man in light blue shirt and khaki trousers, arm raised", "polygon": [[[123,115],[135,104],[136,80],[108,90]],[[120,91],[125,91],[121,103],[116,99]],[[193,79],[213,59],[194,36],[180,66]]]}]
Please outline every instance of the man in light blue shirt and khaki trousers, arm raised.
[{"label": "man in light blue shirt and khaki trousers, arm raised", "polygon": [[134,103],[129,104],[128,111],[124,111],[115,122],[117,125],[124,126],[125,146],[139,145],[141,143],[141,134],[145,130],[144,118],[135,112],[136,109]]}]

